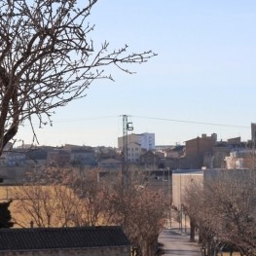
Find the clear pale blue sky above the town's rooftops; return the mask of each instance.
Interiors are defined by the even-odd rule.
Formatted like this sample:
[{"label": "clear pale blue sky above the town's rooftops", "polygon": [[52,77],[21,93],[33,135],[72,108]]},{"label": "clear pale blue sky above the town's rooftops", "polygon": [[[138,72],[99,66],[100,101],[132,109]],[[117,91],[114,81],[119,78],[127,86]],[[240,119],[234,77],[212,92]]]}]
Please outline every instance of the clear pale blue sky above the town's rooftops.
[{"label": "clear pale blue sky above the town's rooftops", "polygon": [[[78,4],[86,3],[78,0]],[[155,133],[156,145],[217,133],[248,140],[256,123],[256,1],[99,0],[88,19],[94,46],[152,50],[128,75],[95,81],[87,96],[55,110],[53,127],[36,128],[39,145],[117,147],[122,115],[133,132]],[[32,142],[29,126],[17,139]]]}]

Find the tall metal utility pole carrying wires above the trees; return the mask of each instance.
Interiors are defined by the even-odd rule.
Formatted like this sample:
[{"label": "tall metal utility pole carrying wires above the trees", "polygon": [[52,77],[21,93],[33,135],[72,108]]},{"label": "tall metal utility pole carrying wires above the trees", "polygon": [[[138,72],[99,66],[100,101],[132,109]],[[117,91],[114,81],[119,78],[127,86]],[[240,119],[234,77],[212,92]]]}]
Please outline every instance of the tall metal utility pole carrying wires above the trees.
[{"label": "tall metal utility pole carrying wires above the trees", "polygon": [[123,115],[123,188],[128,188],[128,130],[133,130],[132,123],[128,122],[128,115]]}]

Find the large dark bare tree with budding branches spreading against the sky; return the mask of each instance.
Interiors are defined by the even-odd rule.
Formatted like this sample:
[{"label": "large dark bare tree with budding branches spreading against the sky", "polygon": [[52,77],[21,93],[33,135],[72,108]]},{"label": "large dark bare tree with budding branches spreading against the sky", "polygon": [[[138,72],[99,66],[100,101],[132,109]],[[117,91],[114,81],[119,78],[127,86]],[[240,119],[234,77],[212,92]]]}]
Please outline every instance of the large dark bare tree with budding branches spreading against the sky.
[{"label": "large dark bare tree with budding branches spreading against the sky", "polygon": [[151,51],[126,54],[128,46],[108,53],[104,42],[95,50],[88,23],[97,0],[82,9],[75,0],[2,0],[0,3],[0,155],[18,127],[33,116],[39,126],[51,124],[54,109],[85,96],[96,79],[107,78],[113,64],[146,62]]}]

